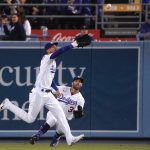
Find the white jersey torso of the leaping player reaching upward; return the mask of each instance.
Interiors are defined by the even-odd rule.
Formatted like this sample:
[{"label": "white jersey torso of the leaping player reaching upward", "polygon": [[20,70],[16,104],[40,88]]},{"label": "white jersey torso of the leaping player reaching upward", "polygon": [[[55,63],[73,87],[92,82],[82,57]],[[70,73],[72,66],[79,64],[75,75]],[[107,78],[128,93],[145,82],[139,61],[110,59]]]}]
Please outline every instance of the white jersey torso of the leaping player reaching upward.
[{"label": "white jersey torso of the leaping player reaching upward", "polygon": [[56,72],[56,61],[55,59],[50,59],[51,55],[52,54],[44,55],[41,60],[40,72],[35,83],[36,87],[50,89]]}]

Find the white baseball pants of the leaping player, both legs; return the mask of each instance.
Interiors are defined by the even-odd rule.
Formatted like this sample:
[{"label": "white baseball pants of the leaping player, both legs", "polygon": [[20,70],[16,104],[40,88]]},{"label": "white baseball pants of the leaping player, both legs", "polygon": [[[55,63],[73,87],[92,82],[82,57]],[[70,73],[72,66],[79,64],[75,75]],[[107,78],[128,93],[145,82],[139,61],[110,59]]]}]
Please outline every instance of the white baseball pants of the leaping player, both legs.
[{"label": "white baseball pants of the leaping player, both legs", "polygon": [[29,109],[28,112],[19,108],[18,106],[9,102],[7,109],[17,115],[20,119],[27,123],[32,123],[37,118],[38,113],[42,107],[46,107],[52,115],[56,118],[59,128],[66,136],[68,145],[71,144],[73,136],[70,131],[68,121],[65,114],[59,105],[58,100],[53,96],[51,92],[41,92],[34,88],[32,93],[29,94]]}]

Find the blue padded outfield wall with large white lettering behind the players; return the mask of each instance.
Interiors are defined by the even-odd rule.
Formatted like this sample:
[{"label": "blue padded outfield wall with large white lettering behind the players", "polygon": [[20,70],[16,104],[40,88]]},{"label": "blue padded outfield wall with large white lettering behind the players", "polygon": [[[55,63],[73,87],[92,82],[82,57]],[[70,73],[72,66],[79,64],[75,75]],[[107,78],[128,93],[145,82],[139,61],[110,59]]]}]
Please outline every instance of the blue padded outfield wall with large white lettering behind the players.
[{"label": "blue padded outfield wall with large white lettering behind the players", "polygon": [[[44,42],[0,43],[0,100],[8,97],[28,108]],[[59,46],[67,43],[60,43]],[[85,116],[70,122],[74,134],[87,137],[150,137],[149,42],[92,43],[68,51],[57,59],[57,84],[70,85],[81,75]],[[33,124],[5,110],[0,113],[0,137],[29,137],[45,121],[42,109]],[[52,136],[50,130],[45,136]],[[51,134],[52,133],[52,134]]]}]

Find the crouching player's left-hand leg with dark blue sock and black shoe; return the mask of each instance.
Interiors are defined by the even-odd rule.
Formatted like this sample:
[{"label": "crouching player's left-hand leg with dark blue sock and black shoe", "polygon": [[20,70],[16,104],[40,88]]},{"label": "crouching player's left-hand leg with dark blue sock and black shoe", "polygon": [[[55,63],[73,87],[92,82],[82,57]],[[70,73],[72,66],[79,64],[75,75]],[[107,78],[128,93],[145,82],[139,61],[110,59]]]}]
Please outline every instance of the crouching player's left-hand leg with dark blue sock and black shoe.
[{"label": "crouching player's left-hand leg with dark blue sock and black shoe", "polygon": [[56,125],[56,118],[52,115],[50,111],[47,113],[46,122],[40,127],[38,132],[32,135],[30,139],[30,144],[35,144],[36,141],[40,140],[40,137],[45,134],[51,127]]}]

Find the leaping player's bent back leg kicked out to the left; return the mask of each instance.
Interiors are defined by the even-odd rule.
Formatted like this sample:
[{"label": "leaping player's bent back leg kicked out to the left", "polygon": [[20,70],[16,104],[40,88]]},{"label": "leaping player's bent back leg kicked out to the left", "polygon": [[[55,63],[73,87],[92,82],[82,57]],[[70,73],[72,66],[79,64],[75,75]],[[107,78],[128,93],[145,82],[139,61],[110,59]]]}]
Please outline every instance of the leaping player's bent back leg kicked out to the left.
[{"label": "leaping player's bent back leg kicked out to the left", "polygon": [[[9,101],[9,99],[5,99],[1,106],[2,109],[8,109],[20,119],[24,120],[27,123],[32,123],[35,121],[38,113],[41,108],[44,106],[42,101],[42,97],[38,94],[38,92],[31,93],[32,96],[29,96],[29,110],[28,113],[18,106],[14,105]],[[32,99],[31,99],[32,98]]]}]

